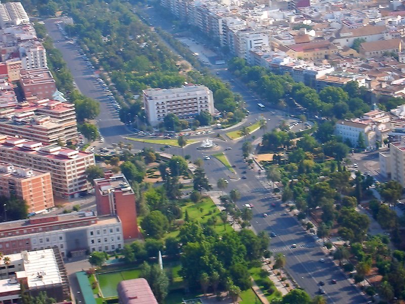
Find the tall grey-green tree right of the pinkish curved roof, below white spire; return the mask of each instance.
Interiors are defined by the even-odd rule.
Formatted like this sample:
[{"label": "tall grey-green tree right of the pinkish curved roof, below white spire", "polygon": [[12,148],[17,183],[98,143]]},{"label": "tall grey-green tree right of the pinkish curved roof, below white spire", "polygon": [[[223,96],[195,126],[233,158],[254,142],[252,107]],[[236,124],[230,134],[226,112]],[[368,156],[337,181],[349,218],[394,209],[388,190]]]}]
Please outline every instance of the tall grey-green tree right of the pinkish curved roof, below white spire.
[{"label": "tall grey-green tree right of the pinkish curved roof, below white spire", "polygon": [[141,267],[141,277],[148,281],[156,300],[162,303],[169,289],[169,279],[166,273],[160,269],[158,264],[149,265],[144,262]]}]

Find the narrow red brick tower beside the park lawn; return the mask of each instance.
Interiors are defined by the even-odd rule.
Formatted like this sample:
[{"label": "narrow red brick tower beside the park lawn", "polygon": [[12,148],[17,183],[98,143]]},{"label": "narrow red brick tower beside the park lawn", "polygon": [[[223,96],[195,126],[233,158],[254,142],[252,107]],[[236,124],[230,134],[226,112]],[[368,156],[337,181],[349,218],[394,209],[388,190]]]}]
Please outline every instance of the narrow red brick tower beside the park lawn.
[{"label": "narrow red brick tower beside the park lawn", "polygon": [[125,240],[138,238],[135,193],[123,174],[104,173],[94,180],[98,215],[116,215],[123,225]]}]

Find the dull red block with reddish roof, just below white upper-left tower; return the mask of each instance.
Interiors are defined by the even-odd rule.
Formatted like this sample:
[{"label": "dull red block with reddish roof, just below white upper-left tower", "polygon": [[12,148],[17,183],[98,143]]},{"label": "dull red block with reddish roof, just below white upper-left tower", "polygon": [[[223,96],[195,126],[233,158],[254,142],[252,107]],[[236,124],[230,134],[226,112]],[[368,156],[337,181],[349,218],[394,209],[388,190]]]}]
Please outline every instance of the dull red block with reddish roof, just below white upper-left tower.
[{"label": "dull red block with reddish roof, just below white upper-left tower", "polygon": [[48,68],[21,70],[20,84],[25,98],[36,96],[52,99],[56,91],[55,80]]}]

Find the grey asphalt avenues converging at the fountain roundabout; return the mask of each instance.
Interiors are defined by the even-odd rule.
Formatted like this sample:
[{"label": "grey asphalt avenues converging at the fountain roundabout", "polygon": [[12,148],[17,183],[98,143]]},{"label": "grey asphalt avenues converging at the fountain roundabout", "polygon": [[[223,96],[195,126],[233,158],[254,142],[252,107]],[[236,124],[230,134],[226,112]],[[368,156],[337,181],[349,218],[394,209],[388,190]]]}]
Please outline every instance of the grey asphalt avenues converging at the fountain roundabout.
[{"label": "grey asphalt avenues converging at the fountain roundabout", "polygon": [[[100,131],[105,138],[103,145],[107,146],[112,142],[125,141],[123,136],[128,135],[130,132],[124,124],[119,122],[118,117],[111,112],[106,102],[106,96],[95,81],[93,71],[77,55],[78,48],[75,45],[67,44],[62,39],[54,21],[55,19],[46,20],[45,25],[54,41],[60,41],[59,43],[56,42],[55,46],[62,52],[79,90],[86,96],[100,102],[101,113],[97,120]],[[157,19],[156,21],[159,21],[161,25],[161,19]],[[246,124],[254,123],[256,119],[263,115],[267,120],[270,119],[267,123],[267,130],[271,130],[279,125],[281,117],[273,115],[269,110],[260,111],[257,107],[260,99],[253,92],[247,90],[243,84],[238,81],[231,81],[233,76],[225,68],[216,69],[212,67],[212,71],[213,73],[218,72],[218,77],[223,81],[230,82],[232,91],[241,94],[247,102],[247,108],[251,111],[251,115],[248,116]],[[219,131],[218,133],[224,133],[224,131]],[[260,133],[261,131],[257,131],[255,135],[257,136]],[[211,151],[197,150],[198,144],[192,144],[185,147],[184,150],[172,147],[166,149],[165,152],[173,155],[190,155],[191,160],[195,160],[201,158],[203,154],[215,154],[218,151],[224,150],[227,146],[233,147],[231,150],[225,151],[225,154],[230,163],[236,165],[236,177],[240,178],[242,175],[246,175],[247,179],[230,179],[230,176],[235,176],[218,160],[211,158],[204,161],[204,168],[214,187],[219,178],[226,178],[229,180],[227,190],[237,188],[241,193],[241,199],[237,203],[240,208],[247,203],[254,204],[253,228],[256,232],[264,230],[268,233],[274,232],[277,234],[277,237],[271,241],[270,250],[286,255],[286,269],[288,273],[311,296],[317,294],[319,281],[324,281],[326,285],[322,288],[326,291],[324,296],[327,298],[328,303],[365,303],[365,297],[350,284],[339,268],[323,254],[321,248],[315,243],[314,238],[304,232],[294,217],[288,213],[285,214],[285,210],[280,207],[281,202],[276,202],[277,207],[275,208],[270,207],[270,203],[272,202],[269,199],[270,195],[262,191],[256,192],[256,189],[265,188],[266,182],[264,176],[258,175],[257,172],[248,169],[243,162],[241,156],[243,141],[223,142],[216,140],[215,142],[218,144],[218,148]],[[145,147],[145,144],[141,142],[131,141],[131,143],[135,150]],[[155,144],[147,144],[147,146],[153,147],[156,150],[161,147]],[[246,174],[241,173],[244,170],[247,171]],[[269,214],[267,218],[263,217],[264,212]],[[292,248],[292,244],[297,244],[297,248]],[[321,257],[325,258],[326,261],[320,262],[319,258]],[[332,279],[336,279],[337,284],[330,284],[330,280]]]}]

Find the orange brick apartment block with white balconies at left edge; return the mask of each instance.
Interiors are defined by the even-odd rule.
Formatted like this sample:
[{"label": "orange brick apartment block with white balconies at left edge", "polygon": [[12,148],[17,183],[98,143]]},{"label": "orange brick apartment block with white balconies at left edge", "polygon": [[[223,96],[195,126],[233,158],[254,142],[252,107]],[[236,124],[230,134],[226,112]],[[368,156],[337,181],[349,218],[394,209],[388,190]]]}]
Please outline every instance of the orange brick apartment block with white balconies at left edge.
[{"label": "orange brick apartment block with white balconies at left edge", "polygon": [[54,207],[51,174],[0,162],[0,195],[24,200],[28,213]]}]

